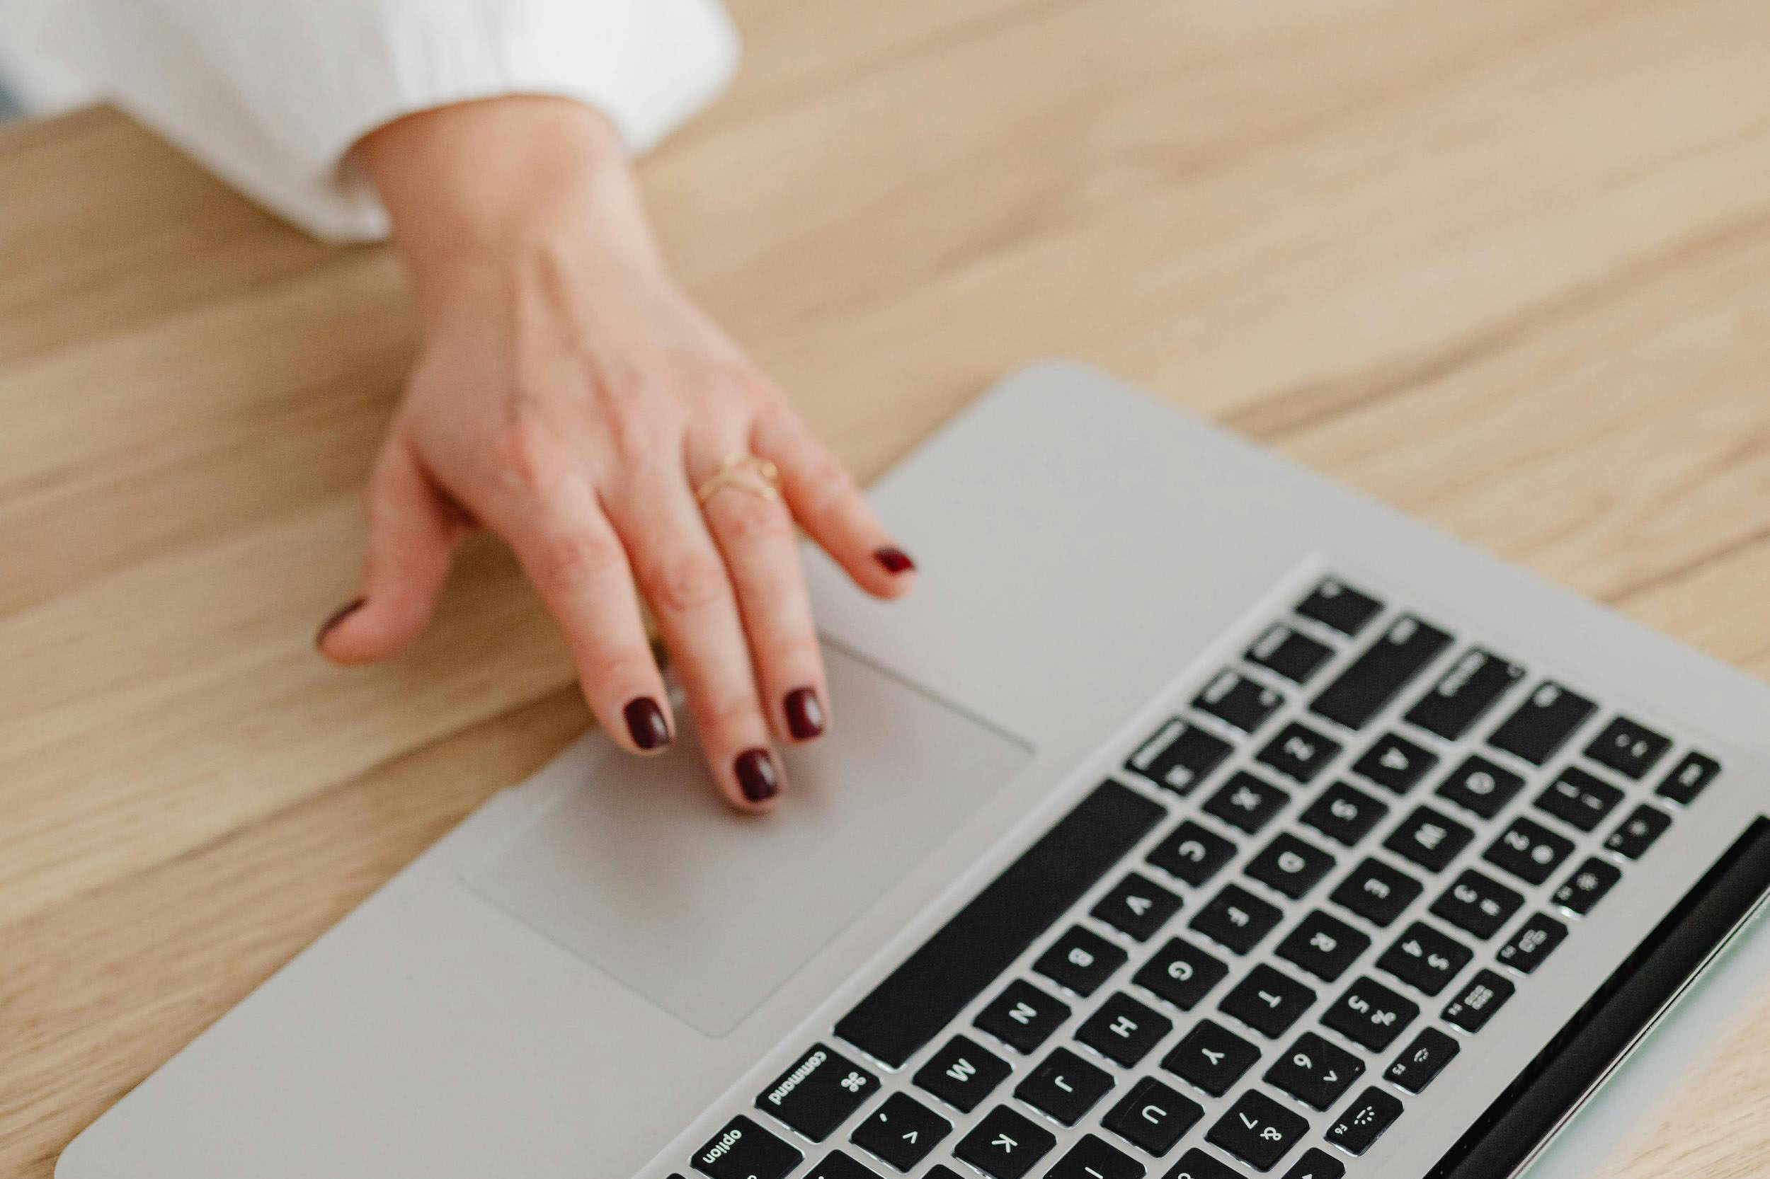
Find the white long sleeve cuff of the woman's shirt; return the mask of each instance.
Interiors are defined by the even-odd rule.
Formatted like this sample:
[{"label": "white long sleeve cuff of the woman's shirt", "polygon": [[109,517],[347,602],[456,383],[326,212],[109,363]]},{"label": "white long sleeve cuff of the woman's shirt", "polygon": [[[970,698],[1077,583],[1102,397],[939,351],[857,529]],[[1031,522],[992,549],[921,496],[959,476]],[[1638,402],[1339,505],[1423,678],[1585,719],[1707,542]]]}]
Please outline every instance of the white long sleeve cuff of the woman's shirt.
[{"label": "white long sleeve cuff of the woman's shirt", "polygon": [[4,0],[0,69],[27,103],[103,94],[310,232],[382,237],[350,145],[418,110],[552,94],[630,150],[717,96],[719,0]]}]

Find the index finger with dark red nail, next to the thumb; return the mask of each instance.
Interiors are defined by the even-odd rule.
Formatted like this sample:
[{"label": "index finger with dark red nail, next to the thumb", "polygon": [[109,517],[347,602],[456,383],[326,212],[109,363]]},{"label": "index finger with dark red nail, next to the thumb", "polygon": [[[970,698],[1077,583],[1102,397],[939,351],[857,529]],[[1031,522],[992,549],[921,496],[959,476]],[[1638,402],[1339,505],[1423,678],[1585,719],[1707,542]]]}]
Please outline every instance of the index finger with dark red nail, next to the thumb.
[{"label": "index finger with dark red nail, next to the thumb", "polygon": [[669,697],[634,574],[588,476],[552,482],[531,508],[492,524],[559,625],[596,722],[632,752],[669,745]]}]

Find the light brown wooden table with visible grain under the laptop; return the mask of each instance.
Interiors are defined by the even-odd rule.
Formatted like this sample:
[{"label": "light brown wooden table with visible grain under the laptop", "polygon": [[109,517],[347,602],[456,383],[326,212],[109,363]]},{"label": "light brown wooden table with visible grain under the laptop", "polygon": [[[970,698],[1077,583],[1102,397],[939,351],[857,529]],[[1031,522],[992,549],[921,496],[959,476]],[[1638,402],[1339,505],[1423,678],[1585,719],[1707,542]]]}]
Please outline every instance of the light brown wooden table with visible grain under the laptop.
[{"label": "light brown wooden table with visible grain under the laptop", "polygon": [[[864,476],[1078,354],[1770,674],[1763,0],[735,7],[646,188]],[[384,251],[0,133],[0,1174],[588,724],[490,543],[404,662],[310,651],[411,358]],[[1770,1007],[1593,1174],[1766,1156]]]}]

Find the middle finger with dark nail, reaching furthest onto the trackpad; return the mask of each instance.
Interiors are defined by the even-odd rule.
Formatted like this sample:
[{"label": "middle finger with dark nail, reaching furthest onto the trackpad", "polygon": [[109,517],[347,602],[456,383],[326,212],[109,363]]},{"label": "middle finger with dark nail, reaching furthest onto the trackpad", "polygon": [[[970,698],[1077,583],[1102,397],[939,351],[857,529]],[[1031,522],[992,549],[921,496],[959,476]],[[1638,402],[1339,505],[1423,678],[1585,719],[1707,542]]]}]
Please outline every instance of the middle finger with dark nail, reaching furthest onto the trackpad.
[{"label": "middle finger with dark nail, reaching furthest onto the trackpad", "polygon": [[731,577],[680,458],[630,473],[618,496],[611,512],[689,696],[708,767],[735,807],[765,811],[781,793],[781,767]]}]

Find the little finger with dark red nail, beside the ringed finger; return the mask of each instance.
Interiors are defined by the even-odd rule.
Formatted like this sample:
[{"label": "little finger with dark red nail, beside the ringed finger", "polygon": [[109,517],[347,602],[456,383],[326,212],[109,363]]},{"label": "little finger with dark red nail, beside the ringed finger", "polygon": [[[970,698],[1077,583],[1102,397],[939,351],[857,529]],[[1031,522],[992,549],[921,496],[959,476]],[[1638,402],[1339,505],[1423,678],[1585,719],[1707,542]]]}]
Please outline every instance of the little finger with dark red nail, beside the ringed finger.
[{"label": "little finger with dark red nail, beside the ringed finger", "polygon": [[811,538],[867,593],[896,598],[915,586],[915,561],[890,538],[848,469],[798,418],[765,414],[756,453],[781,469],[781,494]]}]

